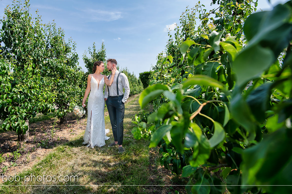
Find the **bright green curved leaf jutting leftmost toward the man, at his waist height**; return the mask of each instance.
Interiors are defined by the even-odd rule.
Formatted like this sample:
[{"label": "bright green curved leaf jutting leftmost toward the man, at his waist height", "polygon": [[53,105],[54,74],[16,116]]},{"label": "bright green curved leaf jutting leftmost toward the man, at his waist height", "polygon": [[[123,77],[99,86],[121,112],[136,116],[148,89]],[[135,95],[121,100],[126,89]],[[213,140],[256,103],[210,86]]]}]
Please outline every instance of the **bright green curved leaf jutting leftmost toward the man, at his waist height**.
[{"label": "bright green curved leaf jutting leftmost toward the man, at his waist height", "polygon": [[141,108],[144,108],[146,104],[148,104],[152,99],[161,95],[164,90],[170,90],[168,86],[162,84],[155,84],[153,86],[149,86],[140,95],[139,104]]}]

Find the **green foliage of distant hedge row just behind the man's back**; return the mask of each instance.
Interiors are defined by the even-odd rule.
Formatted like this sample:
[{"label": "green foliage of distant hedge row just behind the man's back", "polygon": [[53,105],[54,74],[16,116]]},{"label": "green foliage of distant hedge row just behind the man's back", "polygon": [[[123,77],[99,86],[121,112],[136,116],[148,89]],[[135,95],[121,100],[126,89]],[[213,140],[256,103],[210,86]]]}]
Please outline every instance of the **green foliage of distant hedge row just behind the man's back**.
[{"label": "green foliage of distant hedge row just behind the man's back", "polygon": [[128,77],[130,84],[130,96],[140,94],[143,90],[143,85],[140,79],[137,79],[134,72],[130,72],[127,67],[122,68],[120,72],[124,73]]}]

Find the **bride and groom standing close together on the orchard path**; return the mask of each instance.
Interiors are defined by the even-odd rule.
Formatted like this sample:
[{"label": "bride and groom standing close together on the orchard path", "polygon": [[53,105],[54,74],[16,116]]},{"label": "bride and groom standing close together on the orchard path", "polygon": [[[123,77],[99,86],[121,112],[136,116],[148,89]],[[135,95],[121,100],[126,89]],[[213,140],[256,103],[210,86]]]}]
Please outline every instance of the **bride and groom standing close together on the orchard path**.
[{"label": "bride and groom standing close together on the orchard path", "polygon": [[[117,61],[115,59],[107,60],[107,69],[112,71],[109,76],[102,75],[101,72],[105,69],[102,61],[96,61],[93,64],[92,74],[88,75],[87,88],[82,101],[82,106],[85,107],[87,96],[88,98],[88,115],[83,144],[87,147],[102,147],[105,145],[105,140],[109,137],[106,134],[109,129],[105,129],[104,109],[105,102],[109,112],[109,119],[112,125],[112,133],[114,142],[108,147],[119,145],[119,153],[124,152],[123,136],[124,136],[124,113],[125,105],[130,94],[129,81],[124,73],[117,70]],[[105,94],[103,94],[103,86],[105,86]],[[123,94],[125,88],[125,95]]]}]

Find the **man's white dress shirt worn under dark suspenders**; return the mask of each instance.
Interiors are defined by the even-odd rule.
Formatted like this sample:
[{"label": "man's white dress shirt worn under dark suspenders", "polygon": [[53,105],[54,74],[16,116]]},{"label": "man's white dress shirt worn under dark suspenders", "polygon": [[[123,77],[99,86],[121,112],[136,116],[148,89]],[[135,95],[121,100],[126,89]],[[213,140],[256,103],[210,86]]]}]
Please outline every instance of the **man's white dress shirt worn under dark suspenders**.
[{"label": "man's white dress shirt worn under dark suspenders", "polygon": [[[118,95],[117,94],[117,76],[118,76],[118,74],[119,74],[119,71],[116,70],[116,73],[114,74],[114,81],[112,82],[111,86],[108,86],[110,96],[117,96]],[[108,79],[110,79],[111,76],[112,76],[112,74],[109,76]],[[124,73],[120,73],[118,83],[119,83],[119,96],[124,94],[123,88],[125,88],[125,94],[124,94],[124,97],[122,99],[122,102],[125,103],[130,95],[130,84],[129,84],[127,76]],[[105,86],[105,98],[108,98],[107,86]]]}]

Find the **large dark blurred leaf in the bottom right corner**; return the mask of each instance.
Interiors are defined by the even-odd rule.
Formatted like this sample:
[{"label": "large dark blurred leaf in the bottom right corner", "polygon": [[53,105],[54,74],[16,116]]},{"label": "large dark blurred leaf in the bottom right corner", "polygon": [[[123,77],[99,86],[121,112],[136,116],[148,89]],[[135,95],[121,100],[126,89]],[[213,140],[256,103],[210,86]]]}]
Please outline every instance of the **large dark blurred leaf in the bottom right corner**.
[{"label": "large dark blurred leaf in the bottom right corner", "polygon": [[[291,129],[279,129],[264,136],[263,140],[242,154],[242,185],[292,185]],[[268,171],[267,169],[273,169]],[[266,187],[269,193],[271,186]],[[284,192],[285,193],[285,192]]]}]

